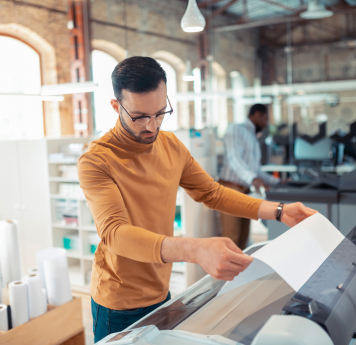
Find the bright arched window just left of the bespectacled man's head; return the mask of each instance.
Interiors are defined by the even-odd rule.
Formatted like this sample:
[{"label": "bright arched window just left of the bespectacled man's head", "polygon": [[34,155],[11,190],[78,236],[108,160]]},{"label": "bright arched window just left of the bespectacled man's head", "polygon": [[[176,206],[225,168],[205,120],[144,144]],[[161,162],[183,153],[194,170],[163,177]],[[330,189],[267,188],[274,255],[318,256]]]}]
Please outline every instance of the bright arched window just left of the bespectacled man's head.
[{"label": "bright arched window just left of the bespectacled man's head", "polygon": [[111,83],[111,73],[118,61],[111,55],[93,50],[93,81],[99,87],[94,92],[95,132],[104,134],[115,126],[118,114],[113,110],[110,100],[115,98]]}]

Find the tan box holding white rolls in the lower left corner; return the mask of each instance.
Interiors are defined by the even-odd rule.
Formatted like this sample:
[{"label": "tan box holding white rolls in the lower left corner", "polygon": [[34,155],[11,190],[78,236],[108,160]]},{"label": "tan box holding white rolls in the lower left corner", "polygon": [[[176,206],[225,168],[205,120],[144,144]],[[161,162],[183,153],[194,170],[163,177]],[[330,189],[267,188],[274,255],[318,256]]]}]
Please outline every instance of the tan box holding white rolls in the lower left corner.
[{"label": "tan box holding white rolls in the lower left corner", "polygon": [[81,299],[74,297],[59,307],[49,305],[47,313],[0,332],[0,344],[85,345]]}]

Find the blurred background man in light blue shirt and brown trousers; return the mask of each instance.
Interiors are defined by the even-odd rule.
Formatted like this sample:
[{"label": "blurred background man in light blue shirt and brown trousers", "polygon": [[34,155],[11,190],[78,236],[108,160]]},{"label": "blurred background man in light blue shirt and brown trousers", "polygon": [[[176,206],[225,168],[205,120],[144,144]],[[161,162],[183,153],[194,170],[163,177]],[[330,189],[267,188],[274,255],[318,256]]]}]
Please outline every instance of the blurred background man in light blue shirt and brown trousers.
[{"label": "blurred background man in light blue shirt and brown trousers", "polygon": [[[268,125],[268,111],[263,104],[251,107],[242,124],[231,125],[224,138],[225,156],[220,183],[241,193],[254,186],[269,190],[279,179],[261,171],[261,149],[257,136]],[[222,236],[230,238],[240,249],[245,249],[250,232],[250,219],[220,214]]]}]

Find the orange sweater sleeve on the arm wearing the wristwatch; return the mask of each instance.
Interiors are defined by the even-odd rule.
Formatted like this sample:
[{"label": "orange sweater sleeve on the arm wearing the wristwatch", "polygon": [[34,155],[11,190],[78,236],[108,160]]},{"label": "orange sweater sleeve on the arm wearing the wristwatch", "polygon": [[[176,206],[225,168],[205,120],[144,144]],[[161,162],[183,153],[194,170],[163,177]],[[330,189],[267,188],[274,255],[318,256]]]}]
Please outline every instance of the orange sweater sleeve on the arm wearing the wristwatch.
[{"label": "orange sweater sleeve on the arm wearing the wristwatch", "polygon": [[[183,144],[182,144],[183,145]],[[214,181],[184,147],[186,163],[180,186],[188,195],[205,206],[236,217],[257,219],[263,200],[252,198]]]}]

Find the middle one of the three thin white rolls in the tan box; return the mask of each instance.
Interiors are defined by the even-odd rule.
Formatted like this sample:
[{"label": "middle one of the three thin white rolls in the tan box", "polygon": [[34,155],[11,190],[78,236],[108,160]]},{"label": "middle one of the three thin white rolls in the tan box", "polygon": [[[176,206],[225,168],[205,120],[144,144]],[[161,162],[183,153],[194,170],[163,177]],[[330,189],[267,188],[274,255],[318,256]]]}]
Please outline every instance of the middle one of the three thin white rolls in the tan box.
[{"label": "middle one of the three thin white rolls in the tan box", "polygon": [[12,327],[22,325],[30,320],[28,308],[28,284],[15,280],[9,284]]}]

